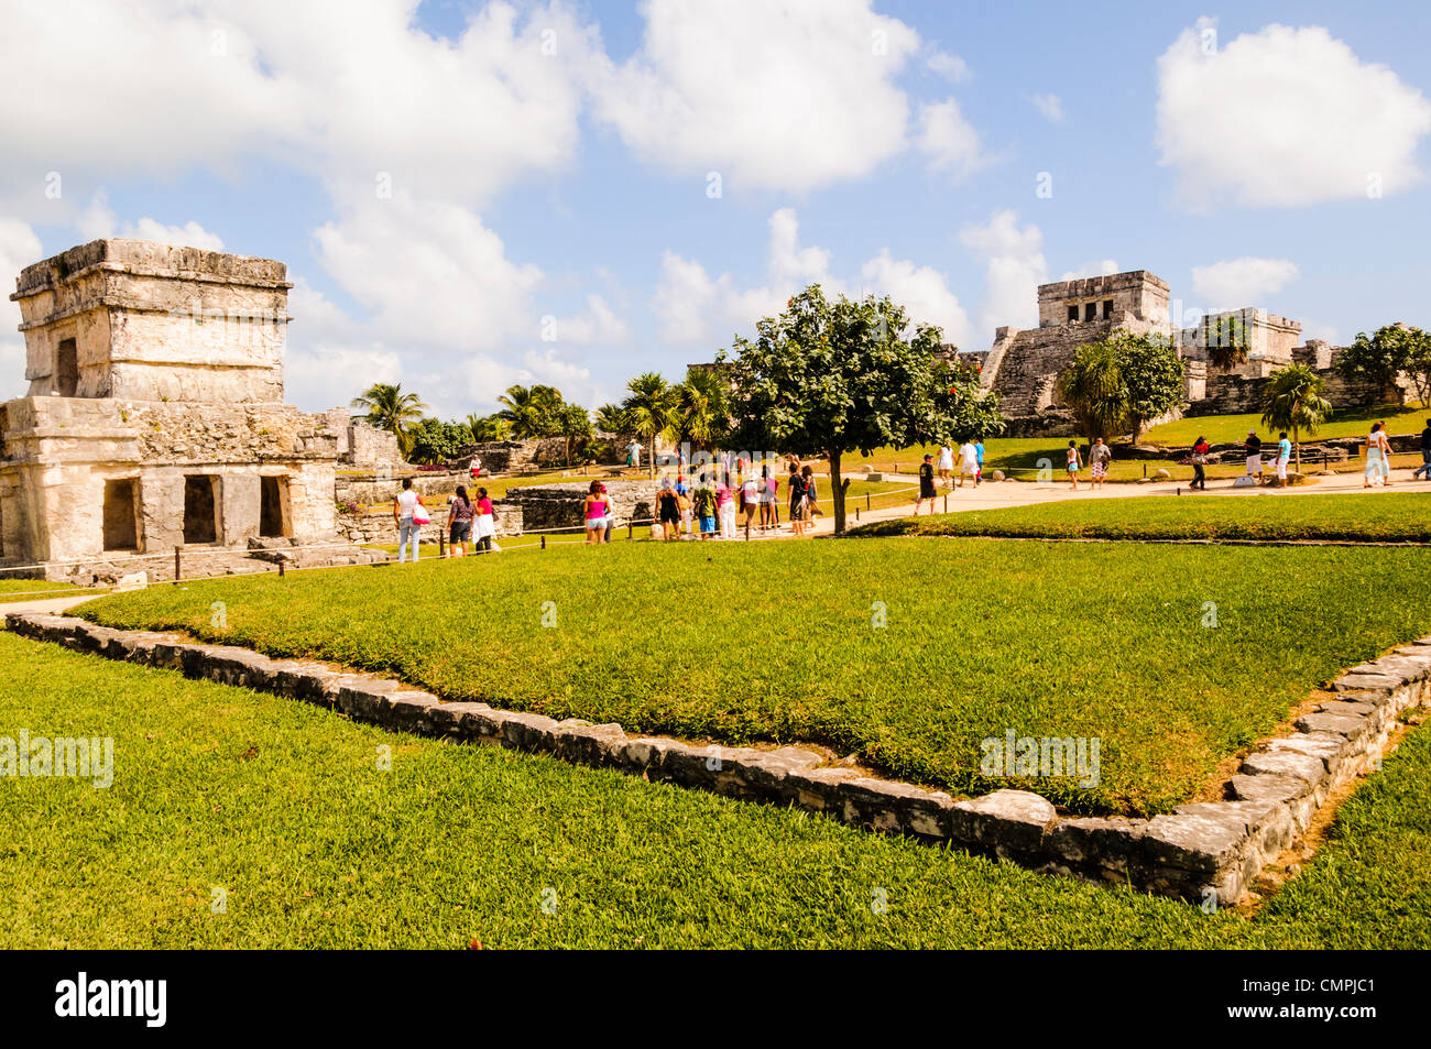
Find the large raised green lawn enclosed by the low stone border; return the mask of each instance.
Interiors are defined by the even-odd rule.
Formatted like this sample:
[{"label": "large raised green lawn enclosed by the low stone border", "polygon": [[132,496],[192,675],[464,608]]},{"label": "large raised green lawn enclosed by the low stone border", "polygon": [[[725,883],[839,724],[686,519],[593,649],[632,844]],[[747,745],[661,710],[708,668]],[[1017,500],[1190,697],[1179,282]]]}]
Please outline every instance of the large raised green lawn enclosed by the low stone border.
[{"label": "large raised green lawn enclosed by the low stone border", "polygon": [[[1148,813],[1186,800],[1344,667],[1431,633],[1425,557],[625,544],[196,581],[80,613],[631,731],[823,743],[967,793],[1010,784],[979,771],[980,741],[1007,728],[1098,737],[1096,789],[1013,783],[1082,811]],[[215,601],[226,628],[212,625]],[[1202,625],[1206,601],[1218,628]]]}]

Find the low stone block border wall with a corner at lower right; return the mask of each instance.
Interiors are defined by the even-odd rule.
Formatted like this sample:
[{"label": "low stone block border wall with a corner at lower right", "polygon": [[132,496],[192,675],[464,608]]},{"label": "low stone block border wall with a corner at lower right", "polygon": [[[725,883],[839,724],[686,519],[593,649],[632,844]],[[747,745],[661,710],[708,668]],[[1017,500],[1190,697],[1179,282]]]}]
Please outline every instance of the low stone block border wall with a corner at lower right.
[{"label": "low stone block border wall with a corner at lower right", "polygon": [[1206,904],[1231,906],[1307,829],[1334,791],[1377,767],[1398,716],[1431,697],[1431,637],[1332,683],[1296,731],[1264,743],[1225,784],[1225,800],[1179,806],[1151,820],[1062,816],[1043,797],[996,790],[957,800],[943,790],[831,764],[807,747],[723,747],[628,736],[620,724],[446,703],[376,674],[179,634],[126,631],[86,620],[11,613],[10,630],[82,653],[288,696],[394,731],[489,743],[612,767],[648,780],[796,806],[869,830],[909,834],[1069,874]]}]

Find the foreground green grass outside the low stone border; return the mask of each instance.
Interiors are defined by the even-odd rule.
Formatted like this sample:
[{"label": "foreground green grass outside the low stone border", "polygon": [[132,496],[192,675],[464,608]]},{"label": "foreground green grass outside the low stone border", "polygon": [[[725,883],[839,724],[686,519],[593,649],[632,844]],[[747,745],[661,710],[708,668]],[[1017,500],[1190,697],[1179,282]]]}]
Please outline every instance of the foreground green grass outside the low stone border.
[{"label": "foreground green grass outside the low stone border", "polygon": [[1425,731],[1246,919],[0,634],[20,727],[114,777],[3,783],[4,949],[1431,945]]}]

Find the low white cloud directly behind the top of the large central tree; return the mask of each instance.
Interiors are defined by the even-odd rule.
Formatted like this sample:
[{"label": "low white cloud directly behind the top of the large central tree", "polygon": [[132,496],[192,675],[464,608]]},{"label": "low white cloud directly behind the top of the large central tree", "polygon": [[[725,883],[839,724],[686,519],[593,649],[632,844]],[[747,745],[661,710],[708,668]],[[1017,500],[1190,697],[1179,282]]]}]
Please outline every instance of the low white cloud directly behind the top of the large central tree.
[{"label": "low white cloud directly behind the top of the large central tree", "polygon": [[913,323],[943,328],[946,341],[966,346],[972,336],[969,316],[942,273],[894,259],[884,249],[860,268],[859,279],[840,278],[830,272],[827,250],[800,245],[798,220],[788,208],[770,216],[766,276],[764,285],[741,288],[730,273],[711,278],[700,262],[667,250],[651,298],[661,339],[711,349],[730,345],[731,333],[751,333],[758,318],[778,313],[794,292],[810,283],[831,295],[889,295],[909,309]]}]

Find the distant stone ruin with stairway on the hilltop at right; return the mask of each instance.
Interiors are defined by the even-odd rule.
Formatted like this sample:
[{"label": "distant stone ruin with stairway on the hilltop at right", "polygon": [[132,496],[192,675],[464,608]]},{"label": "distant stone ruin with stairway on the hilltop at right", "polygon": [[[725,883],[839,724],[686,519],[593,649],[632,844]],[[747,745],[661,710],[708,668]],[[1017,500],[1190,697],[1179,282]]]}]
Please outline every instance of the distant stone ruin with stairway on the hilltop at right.
[{"label": "distant stone ruin with stairway on the hilltop at right", "polygon": [[[1202,316],[1193,326],[1179,328],[1168,292],[1165,280],[1143,269],[1042,285],[1037,328],[999,328],[987,352],[959,356],[976,361],[982,368],[980,385],[1000,395],[1009,436],[1075,435],[1078,428],[1059,402],[1059,374],[1073,362],[1079,346],[1115,331],[1159,335],[1178,346],[1186,362],[1185,415],[1259,412],[1266,378],[1294,362],[1321,374],[1332,404],[1362,405],[1381,399],[1381,389],[1348,382],[1335,371],[1339,348],[1321,339],[1301,345],[1299,322],[1246,306]],[[1209,338],[1218,338],[1219,323],[1228,319],[1241,322],[1248,359],[1224,369],[1209,361],[1208,345]]]}]

